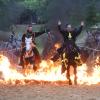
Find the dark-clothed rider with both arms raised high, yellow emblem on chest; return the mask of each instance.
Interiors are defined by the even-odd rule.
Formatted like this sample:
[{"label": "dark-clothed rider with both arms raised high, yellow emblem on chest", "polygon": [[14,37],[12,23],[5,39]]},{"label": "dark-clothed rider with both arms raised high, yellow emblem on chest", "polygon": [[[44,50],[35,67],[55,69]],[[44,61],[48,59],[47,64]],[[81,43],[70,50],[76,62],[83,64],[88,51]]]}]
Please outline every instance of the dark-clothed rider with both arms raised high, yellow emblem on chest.
[{"label": "dark-clothed rider with both arms raised high, yellow emblem on chest", "polygon": [[59,29],[59,31],[60,31],[61,35],[63,36],[63,39],[64,39],[64,43],[63,43],[62,47],[57,50],[58,53],[62,52],[62,50],[65,47],[64,45],[66,43],[68,44],[69,40],[71,40],[73,42],[74,47],[77,49],[78,52],[80,52],[79,48],[75,44],[75,41],[76,41],[76,37],[81,33],[83,26],[84,26],[84,22],[82,21],[81,26],[79,28],[72,29],[72,26],[70,24],[67,24],[66,29],[63,30],[61,28],[61,21],[58,21],[58,29]]}]

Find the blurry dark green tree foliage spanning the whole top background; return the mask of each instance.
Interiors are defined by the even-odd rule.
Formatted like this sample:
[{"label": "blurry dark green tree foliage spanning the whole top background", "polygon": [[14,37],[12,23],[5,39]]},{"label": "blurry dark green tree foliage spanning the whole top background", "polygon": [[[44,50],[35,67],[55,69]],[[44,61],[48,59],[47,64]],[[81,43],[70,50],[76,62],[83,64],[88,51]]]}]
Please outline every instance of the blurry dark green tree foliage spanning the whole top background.
[{"label": "blurry dark green tree foliage spanning the whole top background", "polygon": [[97,3],[100,0],[0,0],[0,28],[15,23],[25,9],[35,11],[42,21],[54,22],[51,25],[57,24],[59,18],[64,24],[86,20],[87,25],[92,25],[100,21]]}]

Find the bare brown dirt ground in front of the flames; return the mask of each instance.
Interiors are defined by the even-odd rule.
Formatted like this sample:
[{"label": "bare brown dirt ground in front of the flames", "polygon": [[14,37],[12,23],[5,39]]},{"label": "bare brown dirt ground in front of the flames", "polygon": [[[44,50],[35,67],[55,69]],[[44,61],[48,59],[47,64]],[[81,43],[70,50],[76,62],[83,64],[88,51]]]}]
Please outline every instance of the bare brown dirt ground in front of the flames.
[{"label": "bare brown dirt ground in front of the flames", "polygon": [[0,100],[100,100],[100,85],[0,85]]}]

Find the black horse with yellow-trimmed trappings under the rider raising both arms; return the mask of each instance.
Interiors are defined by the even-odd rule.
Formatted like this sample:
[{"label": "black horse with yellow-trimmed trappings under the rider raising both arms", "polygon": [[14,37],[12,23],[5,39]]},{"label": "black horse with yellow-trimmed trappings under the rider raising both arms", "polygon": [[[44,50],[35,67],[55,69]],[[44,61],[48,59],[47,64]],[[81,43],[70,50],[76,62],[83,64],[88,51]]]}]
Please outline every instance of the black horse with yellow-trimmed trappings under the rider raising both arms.
[{"label": "black horse with yellow-trimmed trappings under the rider raising both arms", "polygon": [[[58,50],[59,51],[59,50]],[[59,53],[62,60],[62,73],[67,70],[66,77],[69,81],[69,85],[72,85],[72,81],[70,78],[70,67],[74,68],[74,83],[77,84],[77,66],[81,65],[80,54],[72,40],[68,40],[62,48],[60,48]],[[58,55],[55,55],[52,60],[56,61],[58,59]]]}]

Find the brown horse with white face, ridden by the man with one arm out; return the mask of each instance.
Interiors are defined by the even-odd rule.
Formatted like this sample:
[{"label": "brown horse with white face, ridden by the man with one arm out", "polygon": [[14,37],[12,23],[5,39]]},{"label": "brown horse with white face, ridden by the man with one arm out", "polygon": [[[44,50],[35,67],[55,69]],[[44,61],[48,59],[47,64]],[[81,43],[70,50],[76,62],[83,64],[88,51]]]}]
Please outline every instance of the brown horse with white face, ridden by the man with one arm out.
[{"label": "brown horse with white face, ridden by the man with one arm out", "polygon": [[[30,41],[29,39],[27,41]],[[22,49],[23,52],[23,64],[22,67],[24,69],[24,72],[27,71],[27,69],[33,69],[34,71],[37,70],[40,58],[36,55],[36,46],[33,44],[33,42],[26,42],[25,47]]]}]

